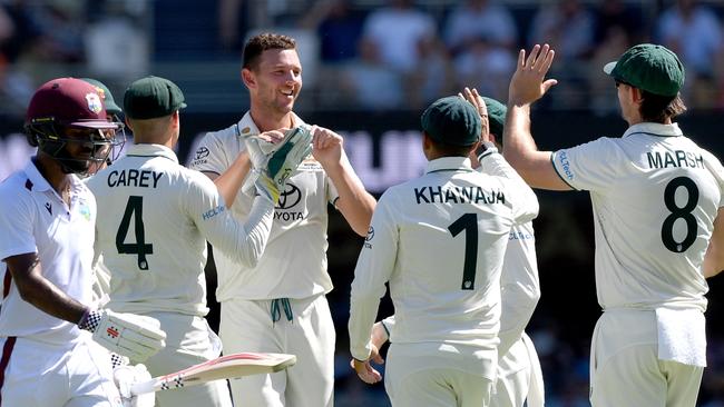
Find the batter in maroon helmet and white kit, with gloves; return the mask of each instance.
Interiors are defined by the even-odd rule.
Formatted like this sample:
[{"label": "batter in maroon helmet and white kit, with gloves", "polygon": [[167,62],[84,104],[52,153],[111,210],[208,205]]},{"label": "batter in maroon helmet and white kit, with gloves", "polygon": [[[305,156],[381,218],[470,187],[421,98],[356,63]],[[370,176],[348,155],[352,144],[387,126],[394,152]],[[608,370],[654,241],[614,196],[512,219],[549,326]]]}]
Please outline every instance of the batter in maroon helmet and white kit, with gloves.
[{"label": "batter in maroon helmet and white kit, with gloves", "polygon": [[25,130],[38,152],[0,183],[3,406],[120,406],[98,344],[136,361],[164,346],[157,320],[91,306],[96,200],[77,175],[106,160],[116,128],[79,79],[48,81],[30,100]]}]

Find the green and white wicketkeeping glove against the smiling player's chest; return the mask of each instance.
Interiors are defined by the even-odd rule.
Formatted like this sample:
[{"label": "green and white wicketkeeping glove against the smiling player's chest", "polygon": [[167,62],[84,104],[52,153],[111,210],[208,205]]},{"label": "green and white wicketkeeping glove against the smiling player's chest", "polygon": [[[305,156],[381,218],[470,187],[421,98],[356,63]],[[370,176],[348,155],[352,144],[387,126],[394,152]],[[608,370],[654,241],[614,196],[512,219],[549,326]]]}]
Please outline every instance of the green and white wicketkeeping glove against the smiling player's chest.
[{"label": "green and white wicketkeeping glove against the smiling player's chest", "polygon": [[266,167],[255,168],[252,177],[255,177],[254,187],[260,195],[276,205],[286,180],[312,151],[312,133],[306,126],[295,127],[286,132],[282,142],[273,146],[278,147],[267,156]]}]

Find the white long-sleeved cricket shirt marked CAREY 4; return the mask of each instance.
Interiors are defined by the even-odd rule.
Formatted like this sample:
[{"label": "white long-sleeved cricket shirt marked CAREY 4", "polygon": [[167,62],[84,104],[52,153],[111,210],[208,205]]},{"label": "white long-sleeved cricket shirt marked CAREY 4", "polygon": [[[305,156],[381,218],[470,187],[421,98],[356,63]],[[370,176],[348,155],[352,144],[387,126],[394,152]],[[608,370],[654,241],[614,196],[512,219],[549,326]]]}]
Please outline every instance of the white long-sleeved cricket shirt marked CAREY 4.
[{"label": "white long-sleeved cricket shirt marked CAREY 4", "polygon": [[88,187],[100,209],[96,250],[111,272],[108,307],[116,311],[204,316],[206,240],[253,262],[268,237],[271,202],[257,200],[266,208],[252,225],[234,221],[214,182],[164,146],[131,146]]}]

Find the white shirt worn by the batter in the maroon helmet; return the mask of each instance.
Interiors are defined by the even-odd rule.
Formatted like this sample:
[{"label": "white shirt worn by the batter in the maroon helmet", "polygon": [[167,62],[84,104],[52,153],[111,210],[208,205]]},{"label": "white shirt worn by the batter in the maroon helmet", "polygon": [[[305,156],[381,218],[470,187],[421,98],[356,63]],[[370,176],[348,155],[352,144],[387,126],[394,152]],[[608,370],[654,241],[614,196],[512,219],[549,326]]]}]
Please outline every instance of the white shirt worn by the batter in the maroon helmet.
[{"label": "white shirt worn by the batter in the maroon helmet", "polygon": [[[88,305],[96,200],[78,177],[70,178],[70,208],[32,161],[0,183],[0,259],[37,252],[43,277]],[[80,335],[75,324],[52,317],[20,298],[7,268],[2,297],[0,336],[66,345]]]}]

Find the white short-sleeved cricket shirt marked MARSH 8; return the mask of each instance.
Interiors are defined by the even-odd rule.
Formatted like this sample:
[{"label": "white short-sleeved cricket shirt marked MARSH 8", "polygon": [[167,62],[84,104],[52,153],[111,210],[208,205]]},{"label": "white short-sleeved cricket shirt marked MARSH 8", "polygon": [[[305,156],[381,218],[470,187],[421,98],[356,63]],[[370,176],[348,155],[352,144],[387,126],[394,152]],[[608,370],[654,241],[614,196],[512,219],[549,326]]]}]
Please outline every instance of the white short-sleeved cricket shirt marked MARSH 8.
[{"label": "white short-sleeved cricket shirt marked MARSH 8", "polygon": [[701,266],[724,205],[724,169],[713,155],[676,123],[639,123],[551,160],[564,181],[590,191],[604,309],[705,310]]}]

